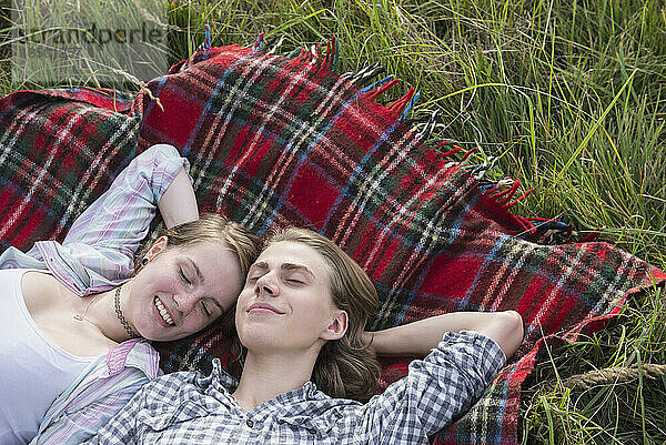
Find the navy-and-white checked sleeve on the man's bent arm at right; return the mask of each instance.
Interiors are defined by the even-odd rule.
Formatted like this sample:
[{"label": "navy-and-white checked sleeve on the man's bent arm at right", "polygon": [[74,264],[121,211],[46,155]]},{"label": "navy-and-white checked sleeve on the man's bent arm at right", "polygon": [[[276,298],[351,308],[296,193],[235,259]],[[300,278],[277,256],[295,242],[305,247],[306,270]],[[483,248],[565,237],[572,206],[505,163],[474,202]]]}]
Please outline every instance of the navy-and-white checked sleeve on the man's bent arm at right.
[{"label": "navy-and-white checked sleeve on the man's bent arm at right", "polygon": [[427,444],[472,406],[505,362],[492,338],[447,332],[427,357],[410,364],[407,376],[364,406],[361,442]]}]

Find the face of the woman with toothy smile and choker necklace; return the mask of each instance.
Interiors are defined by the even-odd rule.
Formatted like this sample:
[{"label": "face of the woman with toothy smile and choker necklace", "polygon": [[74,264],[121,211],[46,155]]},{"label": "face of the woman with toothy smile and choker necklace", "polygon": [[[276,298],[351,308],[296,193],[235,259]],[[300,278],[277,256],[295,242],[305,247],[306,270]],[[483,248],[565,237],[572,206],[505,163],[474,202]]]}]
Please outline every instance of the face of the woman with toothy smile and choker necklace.
[{"label": "face of the woman with toothy smile and choker necklace", "polygon": [[122,291],[129,292],[127,321],[148,340],[172,341],[201,331],[231,309],[241,291],[239,260],[223,243],[168,247],[163,236],[148,257]]}]

